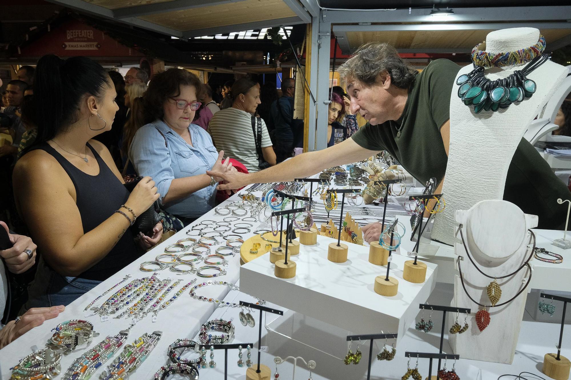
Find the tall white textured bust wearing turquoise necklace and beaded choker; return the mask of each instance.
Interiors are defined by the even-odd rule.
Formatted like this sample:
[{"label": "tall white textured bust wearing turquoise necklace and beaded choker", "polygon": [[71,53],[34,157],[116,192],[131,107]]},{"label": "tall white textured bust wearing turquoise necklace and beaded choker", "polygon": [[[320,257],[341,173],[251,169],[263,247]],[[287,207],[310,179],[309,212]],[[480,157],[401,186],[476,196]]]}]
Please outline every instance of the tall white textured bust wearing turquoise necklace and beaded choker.
[{"label": "tall white textured bust wearing turquoise necklace and beaded choker", "polygon": [[[490,53],[516,51],[537,43],[536,28],[509,28],[490,32],[485,50]],[[525,64],[486,69],[490,80],[504,79]],[[458,76],[473,70],[472,64],[461,68]],[[529,73],[537,83],[537,91],[520,104],[512,104],[499,112],[482,111],[477,115],[457,95],[459,85],[452,87],[450,101],[450,145],[442,192],[447,194],[446,209],[436,215],[432,239],[455,243],[456,210],[468,210],[485,199],[503,199],[508,167],[530,122],[541,110],[568,74],[568,69],[550,60]],[[440,180],[440,179],[439,179]]]}]

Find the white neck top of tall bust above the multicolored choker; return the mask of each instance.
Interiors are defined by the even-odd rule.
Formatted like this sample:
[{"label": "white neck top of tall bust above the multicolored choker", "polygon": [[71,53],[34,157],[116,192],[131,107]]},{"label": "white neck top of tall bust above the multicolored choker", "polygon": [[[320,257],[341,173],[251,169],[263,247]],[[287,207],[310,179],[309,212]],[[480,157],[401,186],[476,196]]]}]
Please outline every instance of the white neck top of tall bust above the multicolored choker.
[{"label": "white neck top of tall bust above the multicolored choker", "polygon": [[536,28],[509,28],[490,32],[486,36],[486,48],[489,53],[516,51],[533,46],[539,40],[540,32]]}]

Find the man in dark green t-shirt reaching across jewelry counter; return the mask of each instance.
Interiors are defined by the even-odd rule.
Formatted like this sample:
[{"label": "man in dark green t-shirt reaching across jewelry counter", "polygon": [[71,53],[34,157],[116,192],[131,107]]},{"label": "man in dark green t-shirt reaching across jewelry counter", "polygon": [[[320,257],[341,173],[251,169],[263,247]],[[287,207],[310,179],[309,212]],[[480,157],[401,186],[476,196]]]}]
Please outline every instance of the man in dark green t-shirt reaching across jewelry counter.
[{"label": "man in dark green t-shirt reaching across jewelry counter", "polygon": [[[351,96],[352,113],[359,112],[368,120],[352,138],[258,173],[207,174],[224,178],[227,183],[219,189],[239,189],[249,183],[308,177],[387,150],[419,181],[436,177],[438,193],[448,162],[450,99],[459,70],[457,64],[438,59],[419,74],[388,44],[366,44],[339,68]],[[526,214],[538,215],[538,228],[561,229],[565,207],[556,207],[557,198],[571,199],[571,192],[522,138],[508,169],[504,199]],[[380,223],[364,226],[363,232],[367,242],[379,239]]]}]

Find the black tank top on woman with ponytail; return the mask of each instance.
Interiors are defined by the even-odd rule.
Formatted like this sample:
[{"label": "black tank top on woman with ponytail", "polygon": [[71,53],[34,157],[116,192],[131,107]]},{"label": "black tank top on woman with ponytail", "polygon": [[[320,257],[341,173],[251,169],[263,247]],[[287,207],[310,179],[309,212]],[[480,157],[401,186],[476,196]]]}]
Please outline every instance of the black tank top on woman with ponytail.
[{"label": "black tank top on woman with ponytail", "polygon": [[[95,152],[95,149],[89,143],[87,146],[91,149],[99,165],[98,175],[83,173],[46,142],[37,148],[54,156],[59,165],[62,165],[67,175],[70,176],[75,186],[75,194],[77,194],[76,204],[79,214],[81,214],[84,234],[99,226],[115,213],[115,210],[118,210],[127,201],[130,194],[99,154]],[[111,251],[103,259],[78,277],[103,281],[138,257],[131,228],[127,228],[115,247],[111,248]]]}]

